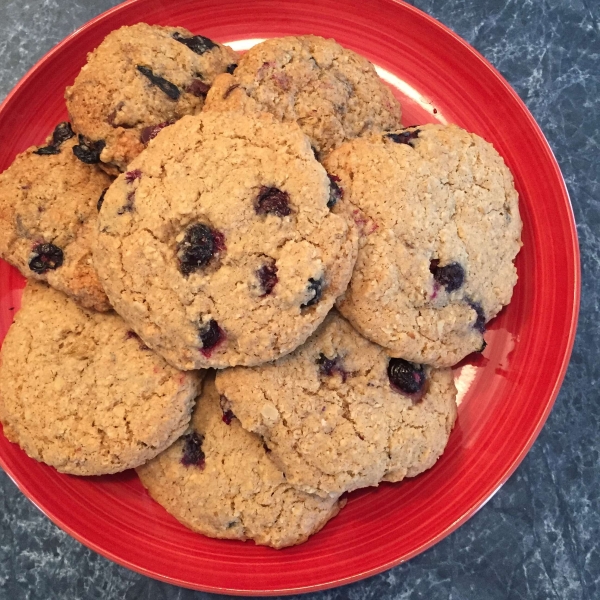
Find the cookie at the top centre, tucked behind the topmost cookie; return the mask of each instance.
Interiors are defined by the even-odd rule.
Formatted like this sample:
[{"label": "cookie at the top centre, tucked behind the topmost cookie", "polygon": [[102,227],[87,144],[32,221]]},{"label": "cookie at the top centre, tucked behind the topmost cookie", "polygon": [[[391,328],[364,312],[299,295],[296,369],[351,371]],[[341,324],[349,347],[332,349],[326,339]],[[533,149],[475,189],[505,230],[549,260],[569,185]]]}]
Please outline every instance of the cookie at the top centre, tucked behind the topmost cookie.
[{"label": "cookie at the top centre, tucked behind the topmost cookie", "polygon": [[346,140],[400,126],[401,109],[373,65],[315,35],[266,40],[217,78],[206,110],[262,110],[298,123],[319,157]]}]

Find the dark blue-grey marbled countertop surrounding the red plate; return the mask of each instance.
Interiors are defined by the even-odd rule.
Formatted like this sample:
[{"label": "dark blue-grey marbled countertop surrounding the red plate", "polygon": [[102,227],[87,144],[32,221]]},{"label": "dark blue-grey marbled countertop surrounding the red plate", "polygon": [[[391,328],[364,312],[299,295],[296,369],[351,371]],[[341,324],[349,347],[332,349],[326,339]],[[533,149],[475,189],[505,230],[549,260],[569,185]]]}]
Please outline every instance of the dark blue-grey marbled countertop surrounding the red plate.
[{"label": "dark blue-grey marbled countertop surrounding the red plate", "polygon": [[[594,600],[600,598],[600,1],[411,3],[487,57],[548,137],[578,224],[583,281],[579,331],[545,428],[492,500],[410,562],[304,598]],[[0,0],[0,98],[47,50],[115,4]],[[0,598],[217,597],[110,562],[53,525],[2,471],[0,487]]]}]

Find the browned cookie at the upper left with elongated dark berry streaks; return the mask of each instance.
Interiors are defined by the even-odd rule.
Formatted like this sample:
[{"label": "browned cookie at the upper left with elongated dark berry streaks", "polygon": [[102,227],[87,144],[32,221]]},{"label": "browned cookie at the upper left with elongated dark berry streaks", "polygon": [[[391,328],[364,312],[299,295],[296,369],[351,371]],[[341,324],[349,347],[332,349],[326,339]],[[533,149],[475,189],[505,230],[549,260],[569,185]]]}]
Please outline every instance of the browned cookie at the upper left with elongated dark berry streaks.
[{"label": "browned cookie at the upper left with elongated dark berry streaks", "polygon": [[231,48],[182,27],[112,31],[65,92],[80,152],[115,175],[124,171],[160,128],[199,112],[215,76],[237,60]]}]

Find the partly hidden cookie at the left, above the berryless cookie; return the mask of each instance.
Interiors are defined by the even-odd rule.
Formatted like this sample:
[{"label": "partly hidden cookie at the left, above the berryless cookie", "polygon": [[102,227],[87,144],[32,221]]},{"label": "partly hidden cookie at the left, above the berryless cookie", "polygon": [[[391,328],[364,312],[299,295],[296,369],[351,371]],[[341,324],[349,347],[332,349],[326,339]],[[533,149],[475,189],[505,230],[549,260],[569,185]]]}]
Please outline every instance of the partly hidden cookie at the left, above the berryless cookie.
[{"label": "partly hidden cookie at the left, above the berryless cookie", "polygon": [[110,309],[92,265],[98,202],[112,179],[76,158],[61,123],[45,146],[19,154],[0,175],[0,256],[82,306]]}]

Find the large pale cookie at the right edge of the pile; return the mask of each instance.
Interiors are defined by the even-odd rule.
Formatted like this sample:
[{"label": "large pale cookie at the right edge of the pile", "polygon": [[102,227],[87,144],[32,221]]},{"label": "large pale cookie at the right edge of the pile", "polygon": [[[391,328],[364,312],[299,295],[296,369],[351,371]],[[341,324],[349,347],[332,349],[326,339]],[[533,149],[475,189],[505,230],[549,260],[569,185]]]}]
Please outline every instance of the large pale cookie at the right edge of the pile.
[{"label": "large pale cookie at the right edge of the pile", "polygon": [[518,194],[493,146],[456,125],[423,125],[354,140],[324,164],[361,229],[342,314],[414,362],[450,366],[482,350],[521,247]]}]

